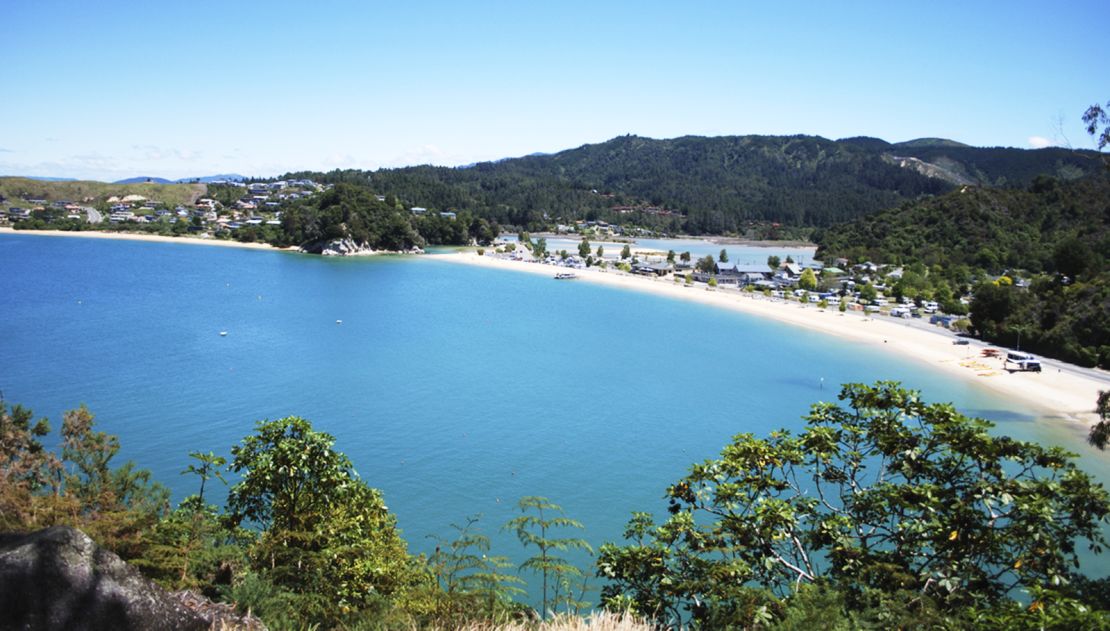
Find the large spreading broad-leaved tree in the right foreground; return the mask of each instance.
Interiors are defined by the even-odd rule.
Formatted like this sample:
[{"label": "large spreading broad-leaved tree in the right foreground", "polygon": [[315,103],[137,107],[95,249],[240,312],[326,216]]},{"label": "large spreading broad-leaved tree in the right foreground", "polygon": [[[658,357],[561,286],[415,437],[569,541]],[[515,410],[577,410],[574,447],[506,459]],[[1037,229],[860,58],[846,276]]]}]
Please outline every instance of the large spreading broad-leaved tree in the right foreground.
[{"label": "large spreading broad-leaved tree in the right foreground", "polygon": [[797,435],[739,434],[694,465],[667,489],[665,523],[634,515],[630,544],[602,547],[603,602],[750,622],[746,584],[785,597],[831,582],[957,609],[1063,584],[1081,542],[1106,544],[1110,495],[1072,454],[993,437],[897,383],[848,384],[840,399],[815,404]]}]

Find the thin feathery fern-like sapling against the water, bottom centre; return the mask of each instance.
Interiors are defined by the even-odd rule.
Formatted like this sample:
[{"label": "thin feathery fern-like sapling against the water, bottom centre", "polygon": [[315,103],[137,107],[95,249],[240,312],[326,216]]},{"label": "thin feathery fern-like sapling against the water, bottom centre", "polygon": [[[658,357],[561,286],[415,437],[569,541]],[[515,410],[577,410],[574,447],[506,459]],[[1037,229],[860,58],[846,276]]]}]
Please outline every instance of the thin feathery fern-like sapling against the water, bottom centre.
[{"label": "thin feathery fern-like sapling against the water, bottom centre", "polygon": [[521,563],[521,569],[543,578],[541,617],[546,618],[548,611],[558,613],[561,607],[566,612],[576,613],[586,604],[582,601],[582,592],[586,589],[585,577],[582,570],[557,553],[567,550],[593,553],[593,548],[584,539],[557,538],[552,532],[568,528],[581,530],[582,523],[565,517],[563,509],[547,498],[521,498],[517,507],[524,514],[509,520],[504,528],[516,532],[525,548],[537,550],[537,554]]}]

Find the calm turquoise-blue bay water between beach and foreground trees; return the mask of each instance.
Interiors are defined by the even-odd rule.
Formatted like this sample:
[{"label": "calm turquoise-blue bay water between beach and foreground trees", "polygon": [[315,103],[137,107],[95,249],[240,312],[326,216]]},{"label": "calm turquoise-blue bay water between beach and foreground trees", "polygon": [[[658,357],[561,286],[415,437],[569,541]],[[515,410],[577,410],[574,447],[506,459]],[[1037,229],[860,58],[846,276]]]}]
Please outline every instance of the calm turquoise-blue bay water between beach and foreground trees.
[{"label": "calm turquoise-blue bay water between beach and foreground trees", "polygon": [[56,429],[87,403],[178,499],[194,491],[189,451],[228,454],[259,419],[309,418],[416,551],[483,513],[494,551],[521,558],[496,531],[526,494],[562,503],[595,545],[617,540],[692,462],[737,432],[800,427],[846,381],[902,380],[1110,479],[1081,437],[973,385],[638,292],[420,258],[23,234],[0,237],[0,268],[9,402]]}]

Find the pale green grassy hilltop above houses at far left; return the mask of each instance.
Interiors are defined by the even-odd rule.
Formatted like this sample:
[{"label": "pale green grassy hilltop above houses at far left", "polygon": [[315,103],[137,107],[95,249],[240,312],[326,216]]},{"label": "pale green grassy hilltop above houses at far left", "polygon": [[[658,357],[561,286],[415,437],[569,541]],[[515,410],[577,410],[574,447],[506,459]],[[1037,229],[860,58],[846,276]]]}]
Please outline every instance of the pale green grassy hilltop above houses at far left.
[{"label": "pale green grassy hilltop above houses at far left", "polygon": [[24,198],[44,199],[48,202],[68,200],[91,204],[112,196],[142,196],[161,201],[171,208],[194,203],[208,191],[205,184],[110,184],[107,182],[47,182],[29,178],[0,178],[0,197],[6,206],[27,207]]}]

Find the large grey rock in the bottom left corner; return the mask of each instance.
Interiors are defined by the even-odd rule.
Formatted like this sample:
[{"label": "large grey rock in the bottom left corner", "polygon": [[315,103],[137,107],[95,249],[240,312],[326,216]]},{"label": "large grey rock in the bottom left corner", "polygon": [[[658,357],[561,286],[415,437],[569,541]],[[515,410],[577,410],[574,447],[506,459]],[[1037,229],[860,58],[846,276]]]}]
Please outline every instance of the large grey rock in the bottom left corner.
[{"label": "large grey rock in the bottom left corner", "polygon": [[0,534],[0,629],[261,628],[211,611],[168,593],[80,530]]}]

